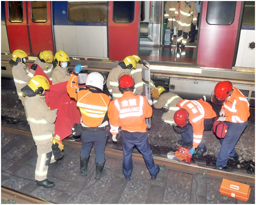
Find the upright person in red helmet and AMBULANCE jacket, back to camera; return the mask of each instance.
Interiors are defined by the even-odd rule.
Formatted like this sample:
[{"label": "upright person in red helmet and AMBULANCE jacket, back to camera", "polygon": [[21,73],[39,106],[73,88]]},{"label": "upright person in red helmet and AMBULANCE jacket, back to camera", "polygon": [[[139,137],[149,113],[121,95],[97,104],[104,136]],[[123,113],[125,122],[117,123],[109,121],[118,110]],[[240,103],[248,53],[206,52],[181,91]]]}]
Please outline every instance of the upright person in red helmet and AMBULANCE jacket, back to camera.
[{"label": "upright person in red helmet and AMBULANCE jacket, back to camera", "polygon": [[159,166],[155,165],[147,134],[145,118],[152,116],[152,100],[144,96],[134,95],[134,79],[131,74],[119,77],[119,87],[123,92],[121,98],[112,101],[108,108],[110,132],[113,141],[117,141],[116,135],[121,126],[123,147],[123,174],[127,181],[130,180],[133,171],[132,152],[134,146],[143,155],[152,179],[159,173]]}]

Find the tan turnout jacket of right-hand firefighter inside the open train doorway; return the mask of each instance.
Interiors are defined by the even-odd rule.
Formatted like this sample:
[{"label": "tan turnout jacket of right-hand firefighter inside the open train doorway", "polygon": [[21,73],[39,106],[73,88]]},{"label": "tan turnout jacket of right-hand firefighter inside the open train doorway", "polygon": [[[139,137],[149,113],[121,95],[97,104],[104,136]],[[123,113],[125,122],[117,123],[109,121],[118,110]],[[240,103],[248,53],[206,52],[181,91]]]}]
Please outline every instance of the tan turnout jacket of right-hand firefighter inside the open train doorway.
[{"label": "tan turnout jacket of right-hand firefighter inside the open train doorway", "polygon": [[[178,17],[178,4],[175,8],[175,16]],[[180,19],[179,19],[179,30],[183,30],[183,32],[190,31],[190,25],[192,23],[197,23],[197,7],[193,1],[190,1],[186,4],[186,1],[181,1],[180,7]]]}]

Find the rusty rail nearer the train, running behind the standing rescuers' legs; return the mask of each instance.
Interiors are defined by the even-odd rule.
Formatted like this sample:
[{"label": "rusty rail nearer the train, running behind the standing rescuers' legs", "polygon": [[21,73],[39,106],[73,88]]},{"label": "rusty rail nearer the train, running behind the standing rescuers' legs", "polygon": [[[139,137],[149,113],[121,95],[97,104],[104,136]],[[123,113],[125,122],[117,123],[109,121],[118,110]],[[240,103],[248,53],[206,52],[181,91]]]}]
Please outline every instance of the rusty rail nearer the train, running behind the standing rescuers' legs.
[{"label": "rusty rail nearer the train, running behind the standing rescuers' legs", "polygon": [[[31,139],[32,137],[31,132],[21,131],[21,130],[7,127],[7,126],[1,126],[1,130],[5,132],[11,132],[17,135],[22,135],[29,139]],[[64,139],[63,144],[66,146],[73,147],[74,149],[81,150],[81,142],[69,141]],[[105,155],[108,157],[123,159],[123,151],[118,149],[106,147]],[[143,157],[140,153],[133,152],[132,158],[133,158],[133,161],[137,163],[145,164]],[[214,169],[208,166],[201,166],[201,165],[199,166],[196,164],[184,163],[181,161],[176,161],[176,160],[158,157],[158,156],[153,156],[153,158],[156,164],[165,165],[170,170],[184,172],[188,174],[204,173],[205,177],[209,177],[217,180],[222,180],[223,178],[226,178],[228,180],[234,180],[240,183],[248,183],[250,186],[255,187],[254,175],[243,174],[243,173],[238,173],[238,172],[233,172],[228,170],[224,171],[224,170]]]}]

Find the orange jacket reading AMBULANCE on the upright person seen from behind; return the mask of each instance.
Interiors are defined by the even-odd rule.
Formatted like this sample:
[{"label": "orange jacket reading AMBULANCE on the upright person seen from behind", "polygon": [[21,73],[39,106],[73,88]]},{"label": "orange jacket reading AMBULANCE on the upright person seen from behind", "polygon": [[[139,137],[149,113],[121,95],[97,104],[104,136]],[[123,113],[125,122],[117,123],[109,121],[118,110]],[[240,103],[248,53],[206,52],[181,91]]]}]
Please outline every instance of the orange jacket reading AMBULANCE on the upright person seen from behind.
[{"label": "orange jacket reading AMBULANCE on the upright person seen from behind", "polygon": [[118,134],[118,128],[134,132],[147,132],[145,118],[152,116],[152,107],[146,97],[134,95],[131,91],[112,101],[108,107],[110,132]]}]

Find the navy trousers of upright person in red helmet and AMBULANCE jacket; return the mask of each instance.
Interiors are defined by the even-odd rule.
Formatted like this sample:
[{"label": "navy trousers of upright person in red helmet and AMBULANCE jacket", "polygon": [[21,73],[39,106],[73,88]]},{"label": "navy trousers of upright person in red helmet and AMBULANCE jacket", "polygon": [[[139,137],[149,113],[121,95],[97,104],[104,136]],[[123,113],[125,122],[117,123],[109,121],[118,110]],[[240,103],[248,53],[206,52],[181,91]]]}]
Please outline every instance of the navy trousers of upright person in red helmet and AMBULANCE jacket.
[{"label": "navy trousers of upright person in red helmet and AMBULANCE jacket", "polygon": [[152,151],[148,140],[148,133],[121,131],[123,146],[123,173],[126,178],[130,178],[133,171],[132,153],[136,146],[141,152],[149,173],[155,177],[158,167],[153,160]]}]

